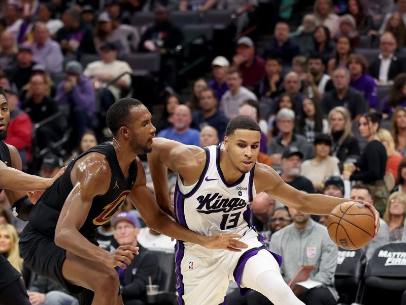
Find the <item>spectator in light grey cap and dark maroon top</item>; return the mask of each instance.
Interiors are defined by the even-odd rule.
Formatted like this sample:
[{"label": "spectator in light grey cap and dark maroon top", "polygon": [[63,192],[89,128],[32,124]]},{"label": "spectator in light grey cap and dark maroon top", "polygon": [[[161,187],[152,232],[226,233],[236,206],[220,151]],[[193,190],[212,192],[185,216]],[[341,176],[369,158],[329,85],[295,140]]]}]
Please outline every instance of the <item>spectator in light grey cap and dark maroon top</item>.
[{"label": "spectator in light grey cap and dark maroon top", "polygon": [[251,38],[244,36],[237,41],[236,54],[232,57],[232,66],[243,74],[243,86],[253,89],[255,83],[265,76],[265,60],[255,55],[255,46]]}]

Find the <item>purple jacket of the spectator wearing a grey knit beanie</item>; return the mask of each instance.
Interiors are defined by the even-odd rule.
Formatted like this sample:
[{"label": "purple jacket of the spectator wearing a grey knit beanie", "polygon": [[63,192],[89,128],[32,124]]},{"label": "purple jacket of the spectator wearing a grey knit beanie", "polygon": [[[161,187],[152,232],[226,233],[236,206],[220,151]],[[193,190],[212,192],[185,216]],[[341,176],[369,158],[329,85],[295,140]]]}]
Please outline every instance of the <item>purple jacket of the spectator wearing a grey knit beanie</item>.
[{"label": "purple jacket of the spectator wearing a grey knit beanie", "polygon": [[78,84],[70,92],[65,91],[63,83],[64,81],[61,81],[56,88],[55,101],[59,104],[70,104],[71,106],[83,109],[94,122],[96,94],[90,79],[81,75]]}]

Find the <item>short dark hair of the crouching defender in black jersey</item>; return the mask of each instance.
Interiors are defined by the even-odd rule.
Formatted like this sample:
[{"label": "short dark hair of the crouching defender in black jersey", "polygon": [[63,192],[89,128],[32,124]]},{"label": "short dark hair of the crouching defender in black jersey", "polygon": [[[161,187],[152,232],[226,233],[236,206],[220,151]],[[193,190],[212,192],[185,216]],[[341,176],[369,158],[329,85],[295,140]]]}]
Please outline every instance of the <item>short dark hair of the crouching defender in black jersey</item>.
[{"label": "short dark hair of the crouching defender in black jersey", "polygon": [[106,123],[114,136],[123,126],[128,126],[131,120],[130,110],[143,105],[139,100],[124,98],[115,102],[107,111]]}]

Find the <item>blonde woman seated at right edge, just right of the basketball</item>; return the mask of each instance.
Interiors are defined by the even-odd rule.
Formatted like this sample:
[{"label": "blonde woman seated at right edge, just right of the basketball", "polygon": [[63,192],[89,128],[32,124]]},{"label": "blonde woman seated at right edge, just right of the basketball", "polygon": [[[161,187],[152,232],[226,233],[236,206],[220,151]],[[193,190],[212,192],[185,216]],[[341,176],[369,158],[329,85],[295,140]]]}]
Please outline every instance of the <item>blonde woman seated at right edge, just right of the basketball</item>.
[{"label": "blonde woman seated at right edge, just right of the basketball", "polygon": [[389,227],[389,241],[401,240],[403,235],[404,219],[406,218],[406,194],[392,193],[386,204],[384,221]]}]

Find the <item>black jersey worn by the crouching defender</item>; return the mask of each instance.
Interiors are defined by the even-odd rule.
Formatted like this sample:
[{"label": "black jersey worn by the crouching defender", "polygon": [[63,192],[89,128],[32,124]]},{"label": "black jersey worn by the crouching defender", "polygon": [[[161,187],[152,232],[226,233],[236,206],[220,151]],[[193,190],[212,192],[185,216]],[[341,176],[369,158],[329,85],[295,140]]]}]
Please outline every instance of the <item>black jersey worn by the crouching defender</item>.
[{"label": "black jersey worn by the crouching defender", "polygon": [[125,178],[113,145],[111,142],[105,142],[90,148],[72,160],[63,175],[45,191],[29,215],[28,221],[32,228],[49,238],[54,238],[60,211],[66,197],[73,189],[72,168],[75,162],[89,153],[99,153],[106,156],[111,169],[111,181],[110,188],[105,195],[93,198],[89,214],[79,232],[88,240],[94,240],[96,228],[107,223],[113,217],[136,181],[137,162],[134,160],[131,163],[128,178]]}]

